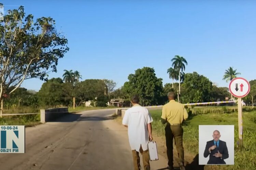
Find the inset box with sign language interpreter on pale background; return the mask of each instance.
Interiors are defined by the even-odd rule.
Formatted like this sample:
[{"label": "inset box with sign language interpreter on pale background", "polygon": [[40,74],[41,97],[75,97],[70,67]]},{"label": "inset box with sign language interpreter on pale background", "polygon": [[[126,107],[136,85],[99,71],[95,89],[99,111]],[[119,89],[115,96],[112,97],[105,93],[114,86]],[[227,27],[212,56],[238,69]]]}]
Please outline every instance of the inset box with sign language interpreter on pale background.
[{"label": "inset box with sign language interpreter on pale background", "polygon": [[234,165],[234,125],[199,125],[199,165]]}]

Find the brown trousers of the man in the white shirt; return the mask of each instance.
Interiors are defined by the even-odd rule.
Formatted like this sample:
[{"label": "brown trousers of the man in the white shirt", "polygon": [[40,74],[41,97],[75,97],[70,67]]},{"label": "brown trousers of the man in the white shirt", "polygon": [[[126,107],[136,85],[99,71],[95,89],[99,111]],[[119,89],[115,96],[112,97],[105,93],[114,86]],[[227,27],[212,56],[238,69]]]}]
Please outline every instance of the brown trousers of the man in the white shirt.
[{"label": "brown trousers of the man in the white shirt", "polygon": [[[150,163],[149,163],[150,158],[149,158],[148,150],[143,151],[142,147],[140,146],[140,153],[142,154],[144,170],[150,170]],[[137,152],[136,150],[132,150],[132,157],[133,157],[134,170],[140,170],[139,152]]]}]

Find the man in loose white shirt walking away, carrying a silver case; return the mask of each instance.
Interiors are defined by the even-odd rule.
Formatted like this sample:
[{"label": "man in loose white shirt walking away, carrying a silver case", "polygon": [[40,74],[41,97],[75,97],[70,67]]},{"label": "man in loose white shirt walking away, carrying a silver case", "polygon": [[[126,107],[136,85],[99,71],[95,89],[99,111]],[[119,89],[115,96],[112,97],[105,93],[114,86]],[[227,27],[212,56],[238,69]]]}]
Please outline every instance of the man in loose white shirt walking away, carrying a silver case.
[{"label": "man in loose white shirt walking away, carrying a silver case", "polygon": [[133,107],[126,110],[123,125],[128,127],[129,143],[135,170],[140,170],[139,152],[142,154],[144,170],[150,170],[147,144],[152,141],[153,119],[148,110],[139,105],[139,96],[131,97]]}]

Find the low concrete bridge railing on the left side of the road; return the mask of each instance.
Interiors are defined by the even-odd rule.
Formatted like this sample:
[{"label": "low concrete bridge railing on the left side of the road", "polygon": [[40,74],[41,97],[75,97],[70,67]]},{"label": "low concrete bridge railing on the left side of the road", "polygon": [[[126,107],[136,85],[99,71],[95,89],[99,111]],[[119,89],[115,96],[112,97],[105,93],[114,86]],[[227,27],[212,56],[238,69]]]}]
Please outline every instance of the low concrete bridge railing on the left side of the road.
[{"label": "low concrete bridge railing on the left side of the road", "polygon": [[56,118],[62,117],[68,113],[68,107],[60,107],[53,109],[41,109],[40,120],[41,123],[52,121]]}]

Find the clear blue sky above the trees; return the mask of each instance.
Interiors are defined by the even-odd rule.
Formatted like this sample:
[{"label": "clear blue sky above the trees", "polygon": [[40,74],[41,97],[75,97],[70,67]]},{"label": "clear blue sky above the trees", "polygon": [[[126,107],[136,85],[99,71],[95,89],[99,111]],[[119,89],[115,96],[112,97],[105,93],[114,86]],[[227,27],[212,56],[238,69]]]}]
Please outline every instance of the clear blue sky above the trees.
[{"label": "clear blue sky above the trees", "polygon": [[[129,74],[153,67],[163,84],[175,55],[186,58],[185,73],[198,72],[228,87],[225,69],[233,66],[256,79],[256,1],[51,0],[3,1],[4,10],[25,7],[34,18],[51,16],[68,39],[70,50],[57,73],[77,70],[85,79],[113,79],[121,87]],[[16,5],[16,6],[13,6]],[[39,90],[43,81],[22,87]]]}]

